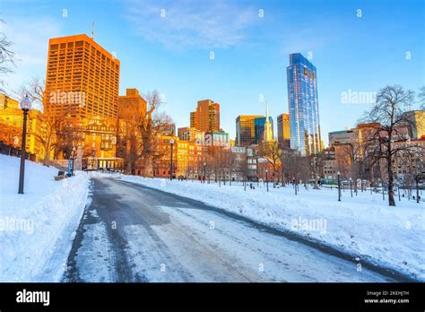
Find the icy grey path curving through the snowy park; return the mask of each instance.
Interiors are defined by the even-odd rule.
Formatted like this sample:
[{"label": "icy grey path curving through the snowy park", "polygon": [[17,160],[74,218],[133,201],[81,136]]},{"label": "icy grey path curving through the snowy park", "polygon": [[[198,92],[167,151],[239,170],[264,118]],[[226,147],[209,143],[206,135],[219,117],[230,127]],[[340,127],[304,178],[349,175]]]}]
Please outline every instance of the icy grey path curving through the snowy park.
[{"label": "icy grey path curving through the snowy park", "polygon": [[194,200],[93,179],[66,282],[389,282]]}]

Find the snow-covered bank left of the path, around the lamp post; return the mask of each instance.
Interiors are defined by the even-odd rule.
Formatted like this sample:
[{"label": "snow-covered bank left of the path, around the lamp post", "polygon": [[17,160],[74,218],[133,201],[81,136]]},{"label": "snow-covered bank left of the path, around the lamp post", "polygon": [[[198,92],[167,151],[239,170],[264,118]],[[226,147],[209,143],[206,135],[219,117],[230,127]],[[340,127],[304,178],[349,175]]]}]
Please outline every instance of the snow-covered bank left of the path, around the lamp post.
[{"label": "snow-covered bank left of the path, around the lamp post", "polygon": [[86,204],[89,177],[55,181],[57,169],[0,155],[0,282],[58,282]]}]

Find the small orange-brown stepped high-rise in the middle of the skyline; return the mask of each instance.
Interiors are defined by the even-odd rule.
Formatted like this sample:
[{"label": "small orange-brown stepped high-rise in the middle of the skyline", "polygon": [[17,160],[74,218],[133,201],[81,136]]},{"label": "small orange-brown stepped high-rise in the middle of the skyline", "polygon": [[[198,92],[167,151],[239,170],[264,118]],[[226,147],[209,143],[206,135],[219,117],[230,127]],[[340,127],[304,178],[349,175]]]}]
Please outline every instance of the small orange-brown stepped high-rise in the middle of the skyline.
[{"label": "small orange-brown stepped high-rise in the middle of the skyline", "polygon": [[190,113],[190,126],[204,132],[220,131],[220,104],[212,100],[198,100]]}]

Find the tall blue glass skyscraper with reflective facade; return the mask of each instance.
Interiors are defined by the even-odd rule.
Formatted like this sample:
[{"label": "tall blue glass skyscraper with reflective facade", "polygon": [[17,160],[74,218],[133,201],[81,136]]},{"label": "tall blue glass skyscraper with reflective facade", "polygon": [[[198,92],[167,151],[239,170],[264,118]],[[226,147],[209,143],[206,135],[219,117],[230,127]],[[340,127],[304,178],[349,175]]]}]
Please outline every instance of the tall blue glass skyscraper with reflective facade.
[{"label": "tall blue glass skyscraper with reflective facade", "polygon": [[310,155],[322,149],[316,67],[300,53],[290,55],[286,68],[288,102],[291,124],[291,148],[301,155]]}]

